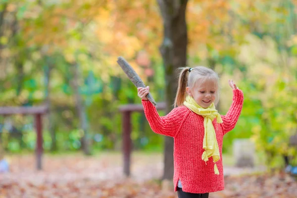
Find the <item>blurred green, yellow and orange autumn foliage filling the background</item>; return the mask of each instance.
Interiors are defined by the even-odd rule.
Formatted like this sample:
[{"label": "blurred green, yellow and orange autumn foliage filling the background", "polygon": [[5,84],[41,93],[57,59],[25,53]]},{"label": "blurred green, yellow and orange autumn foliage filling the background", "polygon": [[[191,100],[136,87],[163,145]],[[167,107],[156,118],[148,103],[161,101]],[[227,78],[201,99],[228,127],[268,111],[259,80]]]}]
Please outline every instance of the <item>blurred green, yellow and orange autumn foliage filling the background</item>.
[{"label": "blurred green, yellow and orange autumn foliage filling the background", "polygon": [[[144,2],[145,7],[136,3],[128,8],[125,1],[118,2],[119,6],[105,6],[100,0],[0,1],[0,12],[9,3],[5,31],[0,32],[0,106],[49,101],[51,114],[44,117],[46,151],[51,150],[54,141],[58,151],[81,149],[83,132],[74,81],[85,106],[92,148],[121,149],[122,115],[118,108],[127,103],[140,104],[141,100],[116,64],[114,54],[127,55],[150,86],[154,99],[164,100],[165,71],[157,46],[161,25],[156,23],[160,19],[153,10],[155,4]],[[249,2],[250,7],[240,1],[221,3],[189,2],[188,63],[209,65],[220,74],[221,113],[227,112],[231,104],[228,78],[233,78],[245,93],[242,115],[236,128],[225,136],[223,151],[231,152],[234,139],[251,138],[257,150],[266,154],[267,165],[275,166],[281,154],[296,156],[296,150],[288,144],[297,131],[296,6],[291,0]],[[143,12],[153,17],[139,18],[146,16],[138,14]],[[129,20],[114,20],[117,15]],[[147,59],[139,60],[140,51],[149,53]],[[79,79],[75,78],[74,64],[79,66]],[[33,122],[28,117],[12,116],[22,136],[13,137],[0,128],[5,148],[13,152],[35,149],[34,129],[21,127]],[[0,124],[6,119],[1,117]],[[151,131],[143,113],[132,114],[132,125],[134,149],[162,150],[163,137]]]}]

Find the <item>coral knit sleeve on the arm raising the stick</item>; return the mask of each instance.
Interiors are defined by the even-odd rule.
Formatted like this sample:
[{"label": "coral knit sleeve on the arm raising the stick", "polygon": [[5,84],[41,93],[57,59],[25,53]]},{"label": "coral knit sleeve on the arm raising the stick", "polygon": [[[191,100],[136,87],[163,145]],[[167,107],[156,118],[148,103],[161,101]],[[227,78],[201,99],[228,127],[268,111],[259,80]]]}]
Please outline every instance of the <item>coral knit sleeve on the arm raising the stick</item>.
[{"label": "coral knit sleeve on the arm raising the stick", "polygon": [[145,115],[151,130],[157,134],[174,137],[186,114],[185,108],[172,109],[165,116],[159,116],[156,107],[148,100],[142,100]]}]

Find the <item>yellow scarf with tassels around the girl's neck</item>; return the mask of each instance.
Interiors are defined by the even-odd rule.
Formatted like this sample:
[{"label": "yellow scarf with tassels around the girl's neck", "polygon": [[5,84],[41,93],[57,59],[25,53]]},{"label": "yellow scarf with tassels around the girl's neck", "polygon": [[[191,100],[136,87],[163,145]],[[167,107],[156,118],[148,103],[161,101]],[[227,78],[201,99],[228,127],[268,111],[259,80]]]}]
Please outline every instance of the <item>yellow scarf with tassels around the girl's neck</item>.
[{"label": "yellow scarf with tassels around the girl's neck", "polygon": [[212,156],[214,162],[214,173],[219,175],[219,170],[215,162],[220,159],[220,151],[218,142],[215,137],[215,130],[212,125],[214,118],[217,119],[217,123],[223,123],[223,120],[215,109],[214,103],[212,103],[208,108],[203,108],[197,104],[193,97],[187,96],[184,105],[188,107],[193,112],[204,117],[204,138],[203,138],[203,149],[202,160],[208,161],[208,158]]}]

